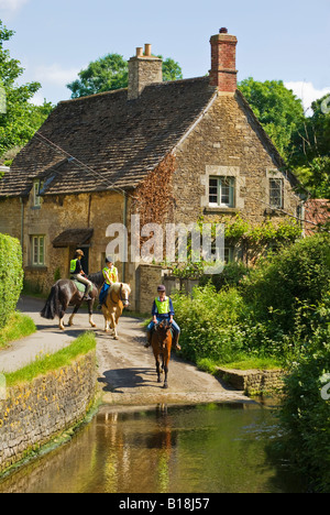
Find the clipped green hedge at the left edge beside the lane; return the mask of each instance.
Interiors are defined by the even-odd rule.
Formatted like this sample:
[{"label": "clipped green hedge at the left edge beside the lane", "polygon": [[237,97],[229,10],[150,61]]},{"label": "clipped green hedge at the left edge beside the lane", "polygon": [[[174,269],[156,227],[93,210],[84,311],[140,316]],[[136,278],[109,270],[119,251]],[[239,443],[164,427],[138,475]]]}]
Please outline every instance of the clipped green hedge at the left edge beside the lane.
[{"label": "clipped green hedge at the left edge beside the lane", "polygon": [[22,250],[19,240],[0,234],[0,328],[15,310],[23,287]]}]

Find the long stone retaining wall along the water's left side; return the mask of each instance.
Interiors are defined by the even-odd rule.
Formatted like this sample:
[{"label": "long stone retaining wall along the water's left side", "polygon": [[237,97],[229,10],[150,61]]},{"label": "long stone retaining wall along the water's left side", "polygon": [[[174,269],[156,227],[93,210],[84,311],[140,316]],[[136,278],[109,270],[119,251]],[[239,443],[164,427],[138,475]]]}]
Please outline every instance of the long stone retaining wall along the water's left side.
[{"label": "long stone retaining wall along the water's left side", "polygon": [[84,420],[96,397],[95,351],[7,390],[0,401],[0,473]]}]

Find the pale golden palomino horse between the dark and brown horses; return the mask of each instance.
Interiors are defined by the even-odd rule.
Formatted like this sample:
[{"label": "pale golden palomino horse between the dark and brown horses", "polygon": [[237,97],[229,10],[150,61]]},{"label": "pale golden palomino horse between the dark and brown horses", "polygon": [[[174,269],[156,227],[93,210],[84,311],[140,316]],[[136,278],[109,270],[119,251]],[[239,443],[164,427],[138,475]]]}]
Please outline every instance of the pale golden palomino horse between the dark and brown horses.
[{"label": "pale golden palomino horse between the dark and brown horses", "polygon": [[122,316],[122,311],[130,305],[129,296],[131,294],[131,287],[129,284],[114,283],[109,288],[106,303],[102,306],[102,313],[105,317],[105,331],[110,332],[109,324],[113,331],[113,339],[118,340],[117,326],[118,320]]}]

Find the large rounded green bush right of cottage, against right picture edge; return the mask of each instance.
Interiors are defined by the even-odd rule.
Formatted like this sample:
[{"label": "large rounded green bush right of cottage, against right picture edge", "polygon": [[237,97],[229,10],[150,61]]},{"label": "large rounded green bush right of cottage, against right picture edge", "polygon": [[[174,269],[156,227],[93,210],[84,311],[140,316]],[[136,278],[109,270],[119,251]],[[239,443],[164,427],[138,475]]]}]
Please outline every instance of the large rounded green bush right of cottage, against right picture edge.
[{"label": "large rounded green bush right of cottage, against right picture edge", "polygon": [[329,241],[328,234],[300,240],[250,272],[241,291],[255,320],[292,333],[301,306],[315,306],[329,289]]}]

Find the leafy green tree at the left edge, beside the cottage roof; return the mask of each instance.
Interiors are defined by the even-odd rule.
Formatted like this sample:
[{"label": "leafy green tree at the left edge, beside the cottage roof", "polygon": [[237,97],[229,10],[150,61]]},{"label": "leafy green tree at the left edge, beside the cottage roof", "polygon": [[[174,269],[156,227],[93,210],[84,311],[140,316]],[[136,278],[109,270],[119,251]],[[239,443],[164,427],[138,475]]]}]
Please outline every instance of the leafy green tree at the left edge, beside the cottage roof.
[{"label": "leafy green tree at the left edge, beside the cottage roof", "polygon": [[[12,147],[25,145],[34,132],[47,118],[53,106],[44,101],[42,107],[33,106],[30,100],[41,88],[40,83],[15,85],[15,80],[24,73],[21,63],[10,56],[3,48],[3,43],[13,36],[0,20],[0,80],[2,91],[2,109],[0,111],[0,156]],[[3,109],[3,98],[6,109]]]}]

